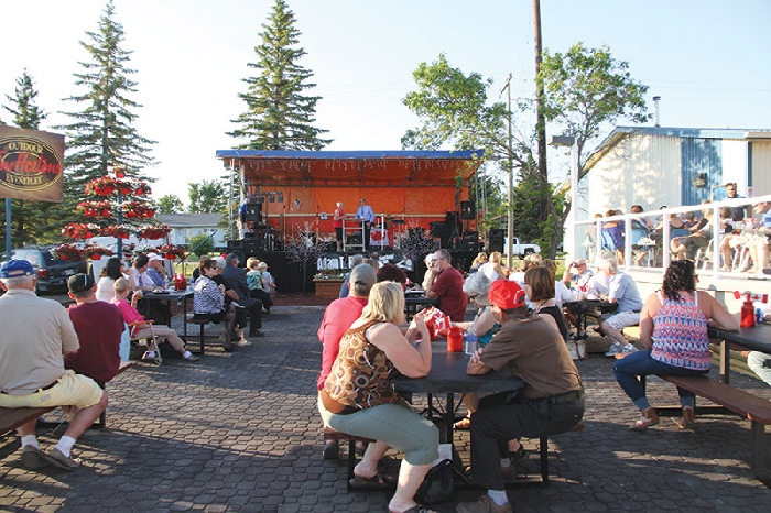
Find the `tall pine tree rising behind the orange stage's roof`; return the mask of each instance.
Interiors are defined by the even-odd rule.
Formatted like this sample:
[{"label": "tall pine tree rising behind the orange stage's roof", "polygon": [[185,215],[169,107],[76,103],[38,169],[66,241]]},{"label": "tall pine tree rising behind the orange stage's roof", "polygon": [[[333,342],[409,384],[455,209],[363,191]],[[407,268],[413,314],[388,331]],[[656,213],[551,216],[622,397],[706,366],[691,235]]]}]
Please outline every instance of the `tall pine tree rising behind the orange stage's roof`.
[{"label": "tall pine tree rising behind the orange stage's roof", "polygon": [[302,94],[316,85],[307,83],[313,73],[296,64],[306,52],[296,47],[301,33],[294,13],[276,0],[269,21],[262,25],[262,44],[254,47],[258,62],[248,64],[259,75],[245,78],[249,87],[238,95],[248,106],[232,120],[241,128],[227,134],[249,140],[240,149],[321,150],[332,140],[319,138],[328,130],[312,125],[321,97]]}]

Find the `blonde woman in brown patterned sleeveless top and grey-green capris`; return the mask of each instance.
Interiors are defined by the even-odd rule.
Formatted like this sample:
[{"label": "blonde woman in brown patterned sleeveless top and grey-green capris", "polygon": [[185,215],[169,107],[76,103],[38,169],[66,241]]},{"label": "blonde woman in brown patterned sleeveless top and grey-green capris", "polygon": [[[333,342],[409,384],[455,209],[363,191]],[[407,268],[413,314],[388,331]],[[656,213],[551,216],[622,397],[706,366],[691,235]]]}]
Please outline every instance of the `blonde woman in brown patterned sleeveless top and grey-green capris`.
[{"label": "blonde woman in brown patterned sleeveless top and grey-green capris", "polygon": [[[391,384],[403,374],[422,378],[431,370],[431,343],[425,318],[419,313],[404,335],[404,293],[398,283],[381,282],[369,293],[367,306],[340,340],[332,372],[319,392],[324,424],[343,433],[365,436],[370,444],[354,469],[354,487],[388,488],[378,461],[389,447],[405,452],[397,492],[389,511],[417,509],[414,495],[438,458],[439,432],[413,412]],[[417,335],[425,342],[415,345]]]}]

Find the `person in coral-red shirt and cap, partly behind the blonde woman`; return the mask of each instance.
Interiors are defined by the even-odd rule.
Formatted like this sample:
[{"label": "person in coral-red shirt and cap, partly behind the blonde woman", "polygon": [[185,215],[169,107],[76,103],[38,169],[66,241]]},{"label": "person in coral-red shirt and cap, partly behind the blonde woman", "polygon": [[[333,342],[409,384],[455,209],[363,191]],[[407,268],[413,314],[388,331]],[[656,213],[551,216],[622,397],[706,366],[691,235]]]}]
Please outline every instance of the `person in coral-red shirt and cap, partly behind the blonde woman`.
[{"label": "person in coral-red shirt and cap, partly behind the blonde woman", "polygon": [[[318,374],[316,383],[318,390],[324,389],[324,382],[332,371],[332,365],[340,350],[340,339],[348,331],[350,325],[361,316],[361,310],[367,306],[369,291],[377,282],[378,276],[370,264],[357,265],[350,272],[348,295],[333,301],[324,310],[324,320],[322,320],[316,334],[324,346],[322,372]],[[324,459],[337,459],[338,451],[336,440],[324,440]]]}]

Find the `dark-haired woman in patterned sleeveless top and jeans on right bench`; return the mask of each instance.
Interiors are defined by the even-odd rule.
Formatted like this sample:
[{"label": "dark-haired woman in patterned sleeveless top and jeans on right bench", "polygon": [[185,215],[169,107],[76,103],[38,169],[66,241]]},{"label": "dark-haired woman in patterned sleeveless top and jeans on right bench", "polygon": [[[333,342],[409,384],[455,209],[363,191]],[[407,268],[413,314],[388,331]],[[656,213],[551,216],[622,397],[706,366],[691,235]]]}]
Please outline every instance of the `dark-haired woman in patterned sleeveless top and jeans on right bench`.
[{"label": "dark-haired woman in patterned sleeveless top and jeans on right bench", "polygon": [[[647,351],[628,353],[613,364],[618,384],[640,410],[634,430],[659,424],[659,415],[645,396],[641,375],[703,375],[709,372],[712,353],[707,323],[739,329],[739,321],[706,292],[696,291],[694,263],[672,262],[661,291],[651,294],[640,313],[640,342]],[[683,407],[681,429],[694,427],[695,395],[677,389]]]}]

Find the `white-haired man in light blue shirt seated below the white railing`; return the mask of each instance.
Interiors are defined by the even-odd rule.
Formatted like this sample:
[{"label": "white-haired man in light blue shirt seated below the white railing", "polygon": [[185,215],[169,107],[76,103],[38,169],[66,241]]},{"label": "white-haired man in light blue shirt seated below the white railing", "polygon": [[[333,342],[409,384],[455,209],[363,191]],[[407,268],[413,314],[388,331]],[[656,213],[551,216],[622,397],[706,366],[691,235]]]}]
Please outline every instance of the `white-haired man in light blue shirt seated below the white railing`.
[{"label": "white-haired man in light blue shirt seated below the white railing", "polygon": [[621,332],[627,326],[640,324],[642,298],[634,280],[629,274],[618,270],[618,262],[613,258],[601,260],[599,269],[599,275],[589,282],[589,294],[596,295],[600,301],[618,304],[618,309],[615,313],[602,314],[599,319],[600,332],[612,340],[610,349],[605,356],[613,358],[617,353],[637,351],[634,346],[627,342]]}]

